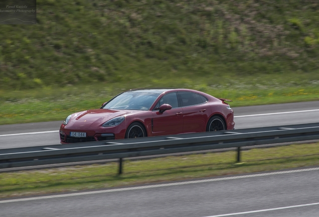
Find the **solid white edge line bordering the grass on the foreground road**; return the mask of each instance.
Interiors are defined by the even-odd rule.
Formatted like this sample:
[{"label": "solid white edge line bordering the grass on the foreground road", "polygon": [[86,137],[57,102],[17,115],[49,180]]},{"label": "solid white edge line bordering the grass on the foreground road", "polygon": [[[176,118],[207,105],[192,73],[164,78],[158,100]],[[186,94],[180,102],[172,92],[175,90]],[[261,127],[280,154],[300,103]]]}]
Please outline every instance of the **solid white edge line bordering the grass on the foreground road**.
[{"label": "solid white edge line bordering the grass on the foreground road", "polygon": [[[308,169],[279,171],[279,172],[260,173],[260,174],[252,174],[252,175],[232,176],[232,177],[224,177],[224,178],[213,178],[213,179],[204,179],[204,180],[195,180],[195,181],[175,182],[175,183],[167,183],[167,184],[146,185],[146,186],[127,187],[127,188],[114,188],[114,189],[98,190],[98,191],[88,191],[88,192],[58,194],[58,195],[50,195],[50,196],[39,196],[39,197],[29,197],[29,198],[20,198],[20,199],[0,200],[0,204],[1,203],[9,203],[9,202],[38,200],[38,199],[51,199],[51,198],[59,198],[59,197],[70,197],[70,196],[81,196],[81,195],[90,195],[90,194],[98,194],[98,193],[108,193],[108,192],[116,192],[116,191],[139,190],[139,189],[147,189],[147,188],[168,187],[168,186],[185,185],[185,184],[196,184],[196,183],[223,181],[223,180],[231,180],[231,179],[252,178],[252,177],[260,177],[260,176],[286,174],[286,173],[307,172],[307,171],[314,171],[314,170],[319,170],[319,167],[308,168]],[[220,216],[222,216],[222,215],[220,215]]]}]

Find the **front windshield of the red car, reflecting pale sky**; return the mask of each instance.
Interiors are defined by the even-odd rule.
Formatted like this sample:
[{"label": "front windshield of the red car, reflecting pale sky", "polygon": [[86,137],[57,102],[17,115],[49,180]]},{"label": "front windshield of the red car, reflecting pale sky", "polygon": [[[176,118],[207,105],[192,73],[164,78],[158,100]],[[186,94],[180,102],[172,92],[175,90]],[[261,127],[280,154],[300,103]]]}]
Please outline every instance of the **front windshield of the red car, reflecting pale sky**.
[{"label": "front windshield of the red car, reflecting pale sky", "polygon": [[124,92],[107,102],[103,109],[149,110],[159,93]]}]

